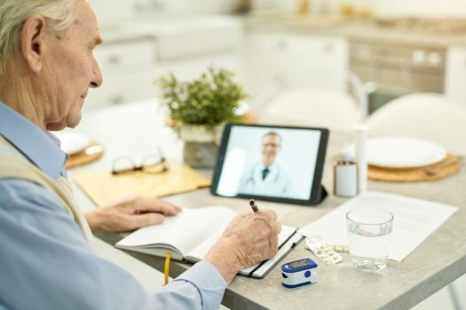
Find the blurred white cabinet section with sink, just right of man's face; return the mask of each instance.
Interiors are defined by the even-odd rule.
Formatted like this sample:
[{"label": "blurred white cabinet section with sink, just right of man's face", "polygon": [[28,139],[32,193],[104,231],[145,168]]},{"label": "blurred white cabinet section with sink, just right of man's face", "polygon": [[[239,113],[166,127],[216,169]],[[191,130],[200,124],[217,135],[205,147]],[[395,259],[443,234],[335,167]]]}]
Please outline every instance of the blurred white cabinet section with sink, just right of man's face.
[{"label": "blurred white cabinet section with sink, just right of man's face", "polygon": [[187,80],[210,65],[237,71],[241,36],[237,20],[209,16],[107,27],[104,44],[95,50],[104,83],[90,90],[84,112],[156,97],[155,79],[169,72]]}]

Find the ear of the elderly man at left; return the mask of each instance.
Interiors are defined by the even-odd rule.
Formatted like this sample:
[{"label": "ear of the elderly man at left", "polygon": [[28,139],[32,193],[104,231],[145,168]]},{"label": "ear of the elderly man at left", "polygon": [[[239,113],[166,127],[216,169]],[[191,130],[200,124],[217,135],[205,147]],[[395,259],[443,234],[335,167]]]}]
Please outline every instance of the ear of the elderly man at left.
[{"label": "ear of the elderly man at left", "polygon": [[35,73],[41,71],[46,43],[45,19],[41,15],[31,15],[21,30],[21,54],[29,69]]}]

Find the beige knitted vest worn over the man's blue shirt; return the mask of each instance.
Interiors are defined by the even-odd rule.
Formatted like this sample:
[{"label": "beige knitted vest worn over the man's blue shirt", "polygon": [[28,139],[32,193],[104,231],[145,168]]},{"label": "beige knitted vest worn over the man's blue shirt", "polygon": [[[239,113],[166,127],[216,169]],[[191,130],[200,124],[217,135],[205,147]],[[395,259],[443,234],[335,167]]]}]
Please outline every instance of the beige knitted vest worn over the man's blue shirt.
[{"label": "beige knitted vest worn over the man's blue shirt", "polygon": [[42,170],[31,164],[20,151],[0,136],[0,179],[20,178],[42,185],[59,198],[72,219],[78,224],[88,244],[93,244],[93,236],[84,214],[75,202],[70,182],[59,176],[58,182],[44,174]]}]

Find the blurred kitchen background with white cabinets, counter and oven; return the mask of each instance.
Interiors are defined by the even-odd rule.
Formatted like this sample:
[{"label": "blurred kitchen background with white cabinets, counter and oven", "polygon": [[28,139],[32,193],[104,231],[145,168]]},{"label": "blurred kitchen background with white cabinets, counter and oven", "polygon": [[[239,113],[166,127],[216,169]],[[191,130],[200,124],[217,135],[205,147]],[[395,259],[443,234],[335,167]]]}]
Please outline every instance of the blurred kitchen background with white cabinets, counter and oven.
[{"label": "blurred kitchen background with white cabinets, counter and oven", "polygon": [[[91,89],[84,113],[156,97],[161,74],[191,79],[210,65],[236,74],[256,115],[296,85],[351,93],[348,72],[369,93],[369,112],[417,92],[466,105],[464,0],[90,3],[104,39],[95,50],[104,84]],[[445,289],[415,308],[438,307],[454,308]]]}]

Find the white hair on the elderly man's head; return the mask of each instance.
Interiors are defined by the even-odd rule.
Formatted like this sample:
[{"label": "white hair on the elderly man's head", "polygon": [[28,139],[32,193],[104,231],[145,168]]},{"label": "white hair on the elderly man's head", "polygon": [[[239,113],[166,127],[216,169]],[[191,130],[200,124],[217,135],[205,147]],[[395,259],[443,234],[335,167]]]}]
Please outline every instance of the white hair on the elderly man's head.
[{"label": "white hair on the elderly man's head", "polygon": [[0,75],[20,49],[21,30],[31,15],[42,15],[53,32],[65,31],[73,22],[75,0],[0,0]]}]

